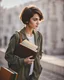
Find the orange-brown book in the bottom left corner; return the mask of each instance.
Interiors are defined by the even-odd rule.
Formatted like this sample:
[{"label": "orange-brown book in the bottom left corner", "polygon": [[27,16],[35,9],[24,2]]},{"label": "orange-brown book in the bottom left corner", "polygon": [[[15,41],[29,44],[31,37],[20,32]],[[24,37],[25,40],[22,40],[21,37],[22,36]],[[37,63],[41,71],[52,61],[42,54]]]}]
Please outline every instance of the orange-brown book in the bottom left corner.
[{"label": "orange-brown book in the bottom left corner", "polygon": [[0,80],[17,80],[18,73],[5,67],[0,68]]}]

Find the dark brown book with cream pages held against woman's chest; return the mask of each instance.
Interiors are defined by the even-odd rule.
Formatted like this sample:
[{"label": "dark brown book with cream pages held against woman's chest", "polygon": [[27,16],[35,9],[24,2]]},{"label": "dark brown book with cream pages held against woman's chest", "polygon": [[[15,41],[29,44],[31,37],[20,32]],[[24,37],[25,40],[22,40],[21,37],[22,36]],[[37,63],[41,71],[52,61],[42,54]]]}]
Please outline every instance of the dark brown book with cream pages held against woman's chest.
[{"label": "dark brown book with cream pages held against woman's chest", "polygon": [[14,54],[21,58],[26,58],[29,56],[33,56],[32,58],[35,58],[37,55],[37,49],[37,45],[28,40],[23,40],[21,43],[16,45]]}]

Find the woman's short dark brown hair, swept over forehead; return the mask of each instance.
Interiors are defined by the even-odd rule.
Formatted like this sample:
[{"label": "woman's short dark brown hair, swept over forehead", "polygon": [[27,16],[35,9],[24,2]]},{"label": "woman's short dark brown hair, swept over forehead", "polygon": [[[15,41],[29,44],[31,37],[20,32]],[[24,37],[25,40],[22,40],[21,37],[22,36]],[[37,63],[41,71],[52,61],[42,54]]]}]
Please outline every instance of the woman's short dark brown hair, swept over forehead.
[{"label": "woman's short dark brown hair, swept over forehead", "polygon": [[40,17],[40,21],[43,20],[42,12],[35,6],[25,7],[20,14],[20,19],[24,24],[30,21],[30,18],[34,16],[34,14],[38,14]]}]

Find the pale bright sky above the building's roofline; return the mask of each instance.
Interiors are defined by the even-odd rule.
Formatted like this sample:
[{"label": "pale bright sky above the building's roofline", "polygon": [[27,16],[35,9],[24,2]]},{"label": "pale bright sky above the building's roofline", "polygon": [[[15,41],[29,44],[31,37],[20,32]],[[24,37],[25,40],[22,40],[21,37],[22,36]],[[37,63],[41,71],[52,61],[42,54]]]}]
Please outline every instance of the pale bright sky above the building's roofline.
[{"label": "pale bright sky above the building's roofline", "polygon": [[1,6],[4,8],[11,8],[14,6],[18,6],[20,4],[24,4],[29,1],[35,1],[35,0],[2,0]]}]

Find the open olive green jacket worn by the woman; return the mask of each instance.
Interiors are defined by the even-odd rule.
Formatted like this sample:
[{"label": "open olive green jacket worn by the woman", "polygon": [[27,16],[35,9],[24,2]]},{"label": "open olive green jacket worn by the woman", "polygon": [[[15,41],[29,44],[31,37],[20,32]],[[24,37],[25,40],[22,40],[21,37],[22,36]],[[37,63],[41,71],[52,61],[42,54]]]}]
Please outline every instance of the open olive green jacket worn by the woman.
[{"label": "open olive green jacket worn by the woman", "polygon": [[[22,40],[28,40],[25,34],[25,28],[23,28],[20,33],[22,34]],[[40,65],[40,59],[42,56],[42,35],[38,31],[33,31],[33,34],[35,44],[38,46],[38,53],[34,61],[34,71],[31,80],[38,80],[42,71],[42,67]],[[24,58],[20,58],[14,55],[15,46],[19,43],[19,39],[19,34],[16,31],[16,33],[10,39],[8,48],[5,53],[5,59],[8,61],[9,67],[18,72],[18,80],[27,80],[29,76],[30,65],[24,63]]]}]

